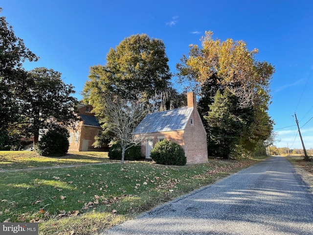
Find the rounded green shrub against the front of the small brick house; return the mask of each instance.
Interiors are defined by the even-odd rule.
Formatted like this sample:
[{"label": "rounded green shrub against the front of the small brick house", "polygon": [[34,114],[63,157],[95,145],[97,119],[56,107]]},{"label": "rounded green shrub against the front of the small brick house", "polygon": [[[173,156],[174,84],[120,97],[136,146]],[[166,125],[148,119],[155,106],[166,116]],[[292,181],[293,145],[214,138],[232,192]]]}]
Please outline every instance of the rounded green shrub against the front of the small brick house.
[{"label": "rounded green shrub against the front of the small brick house", "polygon": [[167,140],[157,142],[151,150],[150,157],[157,164],[185,165],[187,162],[182,147],[175,142]]}]

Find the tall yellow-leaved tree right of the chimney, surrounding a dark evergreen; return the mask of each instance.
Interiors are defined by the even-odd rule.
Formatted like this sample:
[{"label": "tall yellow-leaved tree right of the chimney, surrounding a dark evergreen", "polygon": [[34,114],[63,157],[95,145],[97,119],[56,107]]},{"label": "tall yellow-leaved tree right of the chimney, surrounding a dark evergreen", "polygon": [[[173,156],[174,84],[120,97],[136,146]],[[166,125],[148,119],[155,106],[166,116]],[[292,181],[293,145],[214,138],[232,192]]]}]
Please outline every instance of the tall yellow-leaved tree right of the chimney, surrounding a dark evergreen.
[{"label": "tall yellow-leaved tree right of the chimney, surrounding a dark evergreen", "polygon": [[[191,45],[189,56],[183,55],[177,64],[181,82],[196,84],[200,90],[200,113],[211,112],[208,105],[216,100],[218,90],[229,91],[237,97],[238,107],[253,110],[254,121],[244,128],[238,143],[253,151],[258,141],[270,135],[273,121],[267,114],[270,103],[270,80],[274,67],[255,60],[257,49],[249,51],[243,41],[212,38],[208,31],[202,37],[202,47]],[[210,107],[210,106],[209,106]],[[252,117],[248,115],[249,117]],[[208,131],[208,123],[204,123]]]}]

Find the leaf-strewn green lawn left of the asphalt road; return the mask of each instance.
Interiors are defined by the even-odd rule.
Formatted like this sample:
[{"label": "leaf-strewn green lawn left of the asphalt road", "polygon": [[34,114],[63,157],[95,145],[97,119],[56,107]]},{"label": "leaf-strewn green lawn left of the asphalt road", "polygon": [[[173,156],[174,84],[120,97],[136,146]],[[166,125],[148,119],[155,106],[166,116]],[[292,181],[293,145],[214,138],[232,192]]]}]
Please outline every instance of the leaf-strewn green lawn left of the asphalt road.
[{"label": "leaf-strewn green lawn left of the asphalt road", "polygon": [[[47,163],[35,160],[36,164],[28,164],[21,156],[29,161],[36,156],[31,152],[18,154],[23,167]],[[104,161],[93,154],[78,157],[95,163]],[[66,159],[66,163],[82,164]],[[18,163],[10,168],[18,167]],[[40,235],[97,234],[255,163],[255,159],[209,160],[207,164],[187,166],[128,162],[2,172],[0,222],[39,222]],[[49,164],[59,161],[54,159]]]}]

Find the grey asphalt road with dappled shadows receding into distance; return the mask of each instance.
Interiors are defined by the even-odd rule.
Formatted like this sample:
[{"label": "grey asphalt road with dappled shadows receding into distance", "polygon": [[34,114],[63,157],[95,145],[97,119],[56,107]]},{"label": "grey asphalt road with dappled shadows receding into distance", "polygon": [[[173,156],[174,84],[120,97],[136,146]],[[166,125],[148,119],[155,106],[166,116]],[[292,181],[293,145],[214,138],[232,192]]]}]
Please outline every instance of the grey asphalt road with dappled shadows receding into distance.
[{"label": "grey asphalt road with dappled shadows receding into distance", "polygon": [[103,235],[313,235],[313,194],[272,157]]}]

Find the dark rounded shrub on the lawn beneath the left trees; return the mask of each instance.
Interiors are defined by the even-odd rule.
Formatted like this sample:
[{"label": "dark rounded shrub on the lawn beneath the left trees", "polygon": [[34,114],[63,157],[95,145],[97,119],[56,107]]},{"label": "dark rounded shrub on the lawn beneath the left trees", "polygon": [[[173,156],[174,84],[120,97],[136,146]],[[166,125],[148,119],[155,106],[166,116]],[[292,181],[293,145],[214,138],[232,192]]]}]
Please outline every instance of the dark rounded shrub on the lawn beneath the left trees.
[{"label": "dark rounded shrub on the lawn beneath the left trees", "polygon": [[64,156],[69,147],[68,137],[69,134],[66,128],[53,125],[38,141],[34,150],[45,157]]}]

